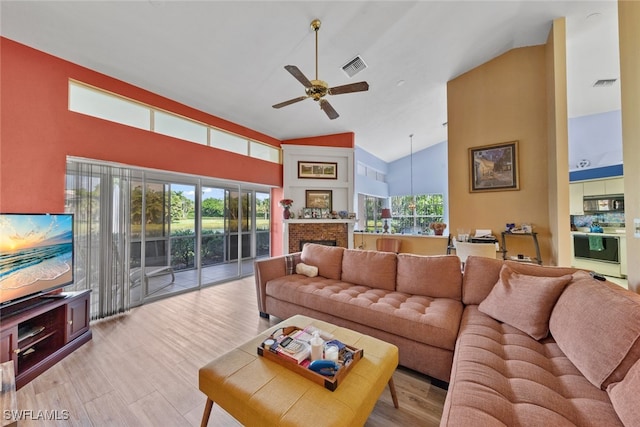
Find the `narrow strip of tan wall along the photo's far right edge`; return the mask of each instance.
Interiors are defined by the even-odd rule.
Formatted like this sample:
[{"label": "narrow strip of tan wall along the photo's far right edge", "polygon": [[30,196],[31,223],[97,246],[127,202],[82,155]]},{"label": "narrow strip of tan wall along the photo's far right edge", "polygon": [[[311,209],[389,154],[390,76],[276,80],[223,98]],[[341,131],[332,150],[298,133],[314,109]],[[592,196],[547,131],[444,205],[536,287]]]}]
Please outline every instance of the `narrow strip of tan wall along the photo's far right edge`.
[{"label": "narrow strip of tan wall along the photo's far right edge", "polygon": [[622,155],[627,225],[629,289],[640,293],[640,239],[634,238],[633,219],[640,218],[640,2],[618,1],[620,92],[622,93]]}]

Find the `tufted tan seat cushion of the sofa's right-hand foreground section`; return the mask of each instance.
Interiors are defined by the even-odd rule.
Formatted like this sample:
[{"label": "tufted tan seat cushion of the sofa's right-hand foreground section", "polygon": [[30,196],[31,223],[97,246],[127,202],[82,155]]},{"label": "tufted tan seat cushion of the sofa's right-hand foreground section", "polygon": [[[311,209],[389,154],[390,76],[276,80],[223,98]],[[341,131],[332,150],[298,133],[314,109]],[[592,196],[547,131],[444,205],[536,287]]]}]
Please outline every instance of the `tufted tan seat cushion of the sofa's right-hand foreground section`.
[{"label": "tufted tan seat cushion of the sofa's right-hand foreground section", "polygon": [[552,338],[465,308],[440,426],[619,426],[607,393]]}]

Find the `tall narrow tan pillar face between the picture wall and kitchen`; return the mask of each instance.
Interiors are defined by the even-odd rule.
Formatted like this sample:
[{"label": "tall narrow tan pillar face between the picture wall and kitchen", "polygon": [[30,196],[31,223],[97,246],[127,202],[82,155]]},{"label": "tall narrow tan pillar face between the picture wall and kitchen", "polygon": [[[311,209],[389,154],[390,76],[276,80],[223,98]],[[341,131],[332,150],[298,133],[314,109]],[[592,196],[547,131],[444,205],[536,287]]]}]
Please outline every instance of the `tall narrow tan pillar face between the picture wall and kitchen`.
[{"label": "tall narrow tan pillar face between the picture wall and kitchen", "polygon": [[571,265],[566,22],[556,19],[546,45],[549,151],[549,264]]}]

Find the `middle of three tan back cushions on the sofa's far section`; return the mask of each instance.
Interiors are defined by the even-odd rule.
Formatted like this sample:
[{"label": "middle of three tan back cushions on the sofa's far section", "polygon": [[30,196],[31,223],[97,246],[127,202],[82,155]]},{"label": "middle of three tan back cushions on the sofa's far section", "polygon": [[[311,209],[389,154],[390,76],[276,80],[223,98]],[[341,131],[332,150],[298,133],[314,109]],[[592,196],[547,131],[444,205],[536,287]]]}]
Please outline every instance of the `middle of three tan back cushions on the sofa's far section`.
[{"label": "middle of three tan back cushions on the sofa's far section", "polygon": [[396,288],[396,263],[394,253],[347,249],[342,256],[342,280],[393,291]]}]

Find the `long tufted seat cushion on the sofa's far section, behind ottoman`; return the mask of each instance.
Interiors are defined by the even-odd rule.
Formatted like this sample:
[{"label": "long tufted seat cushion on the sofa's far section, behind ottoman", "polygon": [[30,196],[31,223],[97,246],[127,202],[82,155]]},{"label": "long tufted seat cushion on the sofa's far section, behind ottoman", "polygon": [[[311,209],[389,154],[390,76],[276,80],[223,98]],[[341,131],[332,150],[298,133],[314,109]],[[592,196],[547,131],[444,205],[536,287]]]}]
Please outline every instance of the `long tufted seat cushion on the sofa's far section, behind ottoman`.
[{"label": "long tufted seat cushion on the sofa's far section, behind ottoman", "polygon": [[267,297],[331,314],[416,342],[453,350],[462,303],[354,285],[340,280],[283,276],[266,285]]}]

